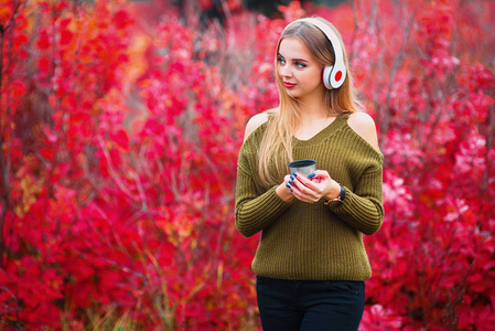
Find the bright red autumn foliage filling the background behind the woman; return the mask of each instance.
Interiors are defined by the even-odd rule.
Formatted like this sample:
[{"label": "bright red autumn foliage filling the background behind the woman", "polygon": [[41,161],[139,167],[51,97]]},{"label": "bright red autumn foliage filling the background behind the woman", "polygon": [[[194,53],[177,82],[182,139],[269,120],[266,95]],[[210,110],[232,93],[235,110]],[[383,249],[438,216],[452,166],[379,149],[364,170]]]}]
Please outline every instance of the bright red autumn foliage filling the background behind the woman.
[{"label": "bright red autumn foliage filling the background behind the woman", "polygon": [[277,104],[281,30],[319,14],[385,154],[362,330],[493,330],[494,3],[294,1],[280,18],[225,3],[220,25],[193,8],[0,0],[0,329],[259,329],[237,153]]}]

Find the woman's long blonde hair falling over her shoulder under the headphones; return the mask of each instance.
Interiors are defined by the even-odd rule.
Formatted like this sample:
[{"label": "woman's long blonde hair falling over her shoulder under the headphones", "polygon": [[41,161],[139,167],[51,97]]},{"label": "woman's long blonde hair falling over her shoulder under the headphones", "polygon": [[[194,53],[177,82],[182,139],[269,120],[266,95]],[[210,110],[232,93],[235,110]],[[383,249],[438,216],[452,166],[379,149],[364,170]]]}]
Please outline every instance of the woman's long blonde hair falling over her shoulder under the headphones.
[{"label": "woman's long blonde hair falling over her shoulder under the headphones", "polygon": [[[347,77],[344,84],[337,89],[326,89],[323,94],[322,103],[329,109],[329,116],[337,116],[343,113],[358,111],[361,106],[357,99],[357,93],[352,82],[352,75],[348,70],[348,60],[345,52],[344,43],[338,31],[329,21],[322,18],[315,18],[327,24],[338,36],[341,42],[344,64]],[[298,100],[290,97],[283,86],[283,82],[278,74],[278,54],[280,43],[284,38],[295,38],[314,55],[319,64],[322,66],[333,65],[335,55],[325,34],[315,25],[306,22],[298,22],[288,25],[280,35],[275,54],[275,70],[277,87],[279,89],[280,105],[278,110],[272,111],[269,116],[267,130],[261,140],[258,152],[258,172],[261,183],[269,188],[279,184],[281,175],[286,174],[287,164],[292,161],[292,139],[301,122],[301,110]],[[323,82],[321,83],[323,84]],[[276,171],[270,172],[270,166],[275,166]]]}]

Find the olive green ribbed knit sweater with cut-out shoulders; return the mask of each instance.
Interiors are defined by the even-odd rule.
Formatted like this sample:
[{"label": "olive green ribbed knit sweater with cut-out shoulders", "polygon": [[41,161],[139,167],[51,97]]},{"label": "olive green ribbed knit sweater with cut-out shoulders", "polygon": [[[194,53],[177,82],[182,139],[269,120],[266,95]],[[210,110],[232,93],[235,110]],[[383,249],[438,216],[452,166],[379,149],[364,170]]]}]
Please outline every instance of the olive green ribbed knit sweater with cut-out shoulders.
[{"label": "olive green ribbed knit sweater with cut-out shoulders", "polygon": [[[284,202],[277,185],[263,188],[257,172],[257,151],[267,124],[258,127],[240,149],[236,186],[236,226],[246,237],[261,238],[252,260],[260,276],[298,280],[366,280],[372,276],[363,234],[383,223],[383,160],[338,116],[309,140],[293,138],[293,159],[313,159],[345,188],[340,205]],[[289,170],[287,170],[287,173]],[[280,183],[283,182],[280,174]]]}]

